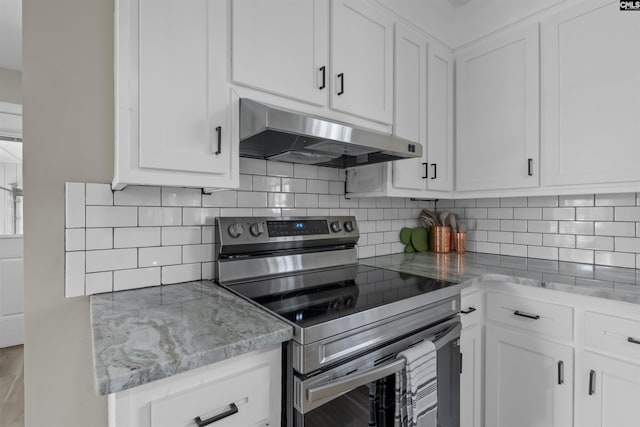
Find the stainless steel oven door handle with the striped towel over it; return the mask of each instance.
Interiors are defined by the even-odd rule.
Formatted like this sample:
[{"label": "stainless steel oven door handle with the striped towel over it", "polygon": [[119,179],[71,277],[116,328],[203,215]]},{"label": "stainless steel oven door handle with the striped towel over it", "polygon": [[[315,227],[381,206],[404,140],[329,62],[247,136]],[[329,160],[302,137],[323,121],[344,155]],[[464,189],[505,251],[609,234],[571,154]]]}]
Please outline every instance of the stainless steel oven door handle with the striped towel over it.
[{"label": "stainless steel oven door handle with the striped towel over it", "polygon": [[[441,331],[441,335],[433,342],[436,346],[436,350],[442,348],[452,339],[459,337],[461,329],[462,326],[460,323],[456,322],[453,326]],[[354,388],[360,387],[361,385],[369,384],[370,382],[395,374],[404,368],[405,363],[404,358],[395,359],[392,362],[376,366],[375,368],[369,369],[368,371],[364,371],[360,374],[348,375],[345,378],[332,381],[327,384],[309,387],[307,389],[307,400],[309,400],[309,402],[315,402],[316,400],[348,392]]]}]

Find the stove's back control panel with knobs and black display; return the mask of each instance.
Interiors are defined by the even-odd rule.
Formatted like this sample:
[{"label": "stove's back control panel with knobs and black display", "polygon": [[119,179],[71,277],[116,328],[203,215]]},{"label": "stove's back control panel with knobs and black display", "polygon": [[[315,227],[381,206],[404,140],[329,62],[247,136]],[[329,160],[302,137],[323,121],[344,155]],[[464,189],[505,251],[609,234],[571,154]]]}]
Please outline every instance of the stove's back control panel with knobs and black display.
[{"label": "stove's back control panel with knobs and black display", "polygon": [[[220,217],[216,219],[216,243],[234,246],[252,245],[249,250],[270,250],[274,244],[282,249],[284,242],[302,242],[309,246],[355,244],[359,238],[358,225],[353,216],[326,217]],[[261,245],[257,247],[256,245]],[[306,243],[302,243],[306,246]],[[225,249],[222,248],[224,251]],[[235,252],[233,250],[232,252]]]}]

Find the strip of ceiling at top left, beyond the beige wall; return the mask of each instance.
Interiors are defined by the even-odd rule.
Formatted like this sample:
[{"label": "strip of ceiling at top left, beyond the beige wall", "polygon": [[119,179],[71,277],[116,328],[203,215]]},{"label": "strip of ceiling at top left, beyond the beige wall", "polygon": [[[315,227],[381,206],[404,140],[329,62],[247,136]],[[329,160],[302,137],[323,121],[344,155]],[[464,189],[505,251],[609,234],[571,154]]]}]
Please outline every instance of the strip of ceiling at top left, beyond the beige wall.
[{"label": "strip of ceiling at top left, beyond the beige wall", "polygon": [[0,68],[22,70],[22,0],[0,0]]}]

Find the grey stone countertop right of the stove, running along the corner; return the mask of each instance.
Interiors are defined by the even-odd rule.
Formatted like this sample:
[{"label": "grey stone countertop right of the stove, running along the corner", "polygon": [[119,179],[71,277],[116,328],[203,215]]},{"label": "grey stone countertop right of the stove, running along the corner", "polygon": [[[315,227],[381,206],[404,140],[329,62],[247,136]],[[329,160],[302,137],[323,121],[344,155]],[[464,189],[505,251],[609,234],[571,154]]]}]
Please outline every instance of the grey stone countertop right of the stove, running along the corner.
[{"label": "grey stone countertop right of the stove, running along the corner", "polygon": [[462,283],[498,280],[640,304],[640,270],[480,253],[391,254],[361,264]]}]

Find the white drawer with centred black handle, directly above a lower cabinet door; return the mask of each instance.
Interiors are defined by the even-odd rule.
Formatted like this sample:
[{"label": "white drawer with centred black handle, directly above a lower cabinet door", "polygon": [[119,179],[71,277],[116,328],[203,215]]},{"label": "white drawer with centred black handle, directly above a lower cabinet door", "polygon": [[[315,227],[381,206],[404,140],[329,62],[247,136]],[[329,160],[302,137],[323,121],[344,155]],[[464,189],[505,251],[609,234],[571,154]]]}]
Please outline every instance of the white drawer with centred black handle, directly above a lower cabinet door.
[{"label": "white drawer with centred black handle, directly above a lower cabinet door", "polygon": [[573,340],[572,307],[490,292],[487,318],[541,335]]}]

